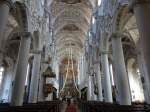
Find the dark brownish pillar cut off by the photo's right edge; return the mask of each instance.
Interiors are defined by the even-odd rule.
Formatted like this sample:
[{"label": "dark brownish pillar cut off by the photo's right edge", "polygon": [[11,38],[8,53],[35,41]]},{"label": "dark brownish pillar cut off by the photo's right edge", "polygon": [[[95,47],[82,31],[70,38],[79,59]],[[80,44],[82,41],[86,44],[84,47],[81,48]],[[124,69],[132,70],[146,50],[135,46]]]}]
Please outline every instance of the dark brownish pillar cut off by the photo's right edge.
[{"label": "dark brownish pillar cut off by the photo's right edge", "polygon": [[141,49],[148,72],[147,80],[150,82],[150,0],[131,0],[130,9],[137,21],[141,37]]}]

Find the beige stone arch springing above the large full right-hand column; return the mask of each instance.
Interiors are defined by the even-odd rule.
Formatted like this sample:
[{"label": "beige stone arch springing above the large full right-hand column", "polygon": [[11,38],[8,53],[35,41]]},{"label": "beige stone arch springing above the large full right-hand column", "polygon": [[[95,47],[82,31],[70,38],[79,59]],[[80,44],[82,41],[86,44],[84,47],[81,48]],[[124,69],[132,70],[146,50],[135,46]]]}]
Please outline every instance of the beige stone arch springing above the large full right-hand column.
[{"label": "beige stone arch springing above the large full right-hand column", "polygon": [[[127,35],[126,37],[135,44],[137,40],[133,38],[133,35],[129,31],[129,29],[127,29],[127,27],[129,27],[129,24],[132,24],[132,26],[133,24],[136,24],[136,21],[133,21],[135,20],[135,18],[133,18],[133,14],[129,13],[129,5],[119,5],[116,9],[117,10],[113,17],[113,25],[111,28],[112,33],[119,32],[121,34]],[[130,21],[132,23],[130,23]],[[136,26],[134,27],[134,29],[137,29]],[[111,38],[111,36],[109,38]]]}]

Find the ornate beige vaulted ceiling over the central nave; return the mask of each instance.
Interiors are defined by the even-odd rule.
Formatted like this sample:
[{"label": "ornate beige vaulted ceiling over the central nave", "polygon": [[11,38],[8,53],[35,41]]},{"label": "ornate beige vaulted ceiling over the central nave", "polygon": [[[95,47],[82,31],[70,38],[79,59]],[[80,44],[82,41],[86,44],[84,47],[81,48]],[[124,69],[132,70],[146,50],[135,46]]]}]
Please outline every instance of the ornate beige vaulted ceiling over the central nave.
[{"label": "ornate beige vaulted ceiling over the central nave", "polygon": [[[93,0],[96,1],[96,0]],[[77,60],[87,35],[93,5],[90,0],[53,0],[50,4],[51,25],[56,55],[61,60],[69,56]]]}]

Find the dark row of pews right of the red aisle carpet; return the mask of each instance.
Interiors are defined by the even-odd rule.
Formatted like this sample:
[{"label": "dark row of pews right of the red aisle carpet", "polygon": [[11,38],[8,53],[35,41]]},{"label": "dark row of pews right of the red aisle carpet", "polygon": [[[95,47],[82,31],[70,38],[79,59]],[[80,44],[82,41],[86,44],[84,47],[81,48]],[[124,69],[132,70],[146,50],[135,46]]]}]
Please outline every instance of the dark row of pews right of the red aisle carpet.
[{"label": "dark row of pews right of the red aisle carpet", "polygon": [[102,103],[98,101],[79,102],[81,112],[150,112],[150,105],[134,103],[131,106]]}]

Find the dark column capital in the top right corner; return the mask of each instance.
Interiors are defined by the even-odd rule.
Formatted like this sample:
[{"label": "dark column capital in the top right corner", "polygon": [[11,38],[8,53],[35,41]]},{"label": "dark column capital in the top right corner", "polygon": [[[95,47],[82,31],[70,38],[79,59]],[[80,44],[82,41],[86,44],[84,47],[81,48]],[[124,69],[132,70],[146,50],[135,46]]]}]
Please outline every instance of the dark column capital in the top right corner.
[{"label": "dark column capital in the top right corner", "polygon": [[134,7],[136,7],[137,5],[140,5],[140,4],[148,4],[148,3],[150,3],[150,0],[131,0],[131,2],[129,4],[129,10],[130,10],[130,12],[133,13]]}]

